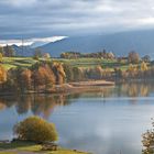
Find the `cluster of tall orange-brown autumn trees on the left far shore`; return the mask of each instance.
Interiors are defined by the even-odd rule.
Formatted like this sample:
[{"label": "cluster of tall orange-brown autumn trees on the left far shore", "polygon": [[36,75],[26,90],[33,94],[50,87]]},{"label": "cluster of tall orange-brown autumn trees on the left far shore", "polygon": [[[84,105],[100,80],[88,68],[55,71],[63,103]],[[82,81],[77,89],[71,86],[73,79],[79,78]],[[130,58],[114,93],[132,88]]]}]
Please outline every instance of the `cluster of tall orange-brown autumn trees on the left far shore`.
[{"label": "cluster of tall orange-brown autumn trees on the left far shore", "polygon": [[11,68],[8,72],[0,66],[0,81],[2,90],[24,92],[25,90],[41,90],[65,81],[65,72],[61,63],[37,63],[30,68]]}]

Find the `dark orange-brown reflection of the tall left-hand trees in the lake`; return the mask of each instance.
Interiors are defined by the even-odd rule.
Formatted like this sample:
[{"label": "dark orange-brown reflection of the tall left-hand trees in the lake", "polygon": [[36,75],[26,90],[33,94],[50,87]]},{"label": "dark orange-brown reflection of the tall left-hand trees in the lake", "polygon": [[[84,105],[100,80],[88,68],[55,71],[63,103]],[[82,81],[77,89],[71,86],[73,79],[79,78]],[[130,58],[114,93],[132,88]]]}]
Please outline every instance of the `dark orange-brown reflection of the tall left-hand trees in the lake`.
[{"label": "dark orange-brown reflection of the tall left-hand trees in the lake", "polygon": [[[74,95],[78,97],[78,95]],[[19,114],[28,113],[30,110],[33,114],[42,114],[47,119],[57,106],[66,106],[70,103],[69,95],[26,95],[20,97],[2,97],[0,98],[0,110],[15,107]]]}]

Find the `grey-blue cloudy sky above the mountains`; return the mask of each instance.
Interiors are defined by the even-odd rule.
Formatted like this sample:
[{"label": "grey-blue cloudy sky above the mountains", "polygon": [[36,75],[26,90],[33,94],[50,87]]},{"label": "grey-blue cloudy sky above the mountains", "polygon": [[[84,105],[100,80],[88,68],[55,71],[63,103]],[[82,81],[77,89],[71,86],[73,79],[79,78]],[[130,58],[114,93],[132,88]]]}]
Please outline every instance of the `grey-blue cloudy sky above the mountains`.
[{"label": "grey-blue cloudy sky above the mountains", "polygon": [[103,34],[153,26],[153,0],[0,0],[3,40]]}]

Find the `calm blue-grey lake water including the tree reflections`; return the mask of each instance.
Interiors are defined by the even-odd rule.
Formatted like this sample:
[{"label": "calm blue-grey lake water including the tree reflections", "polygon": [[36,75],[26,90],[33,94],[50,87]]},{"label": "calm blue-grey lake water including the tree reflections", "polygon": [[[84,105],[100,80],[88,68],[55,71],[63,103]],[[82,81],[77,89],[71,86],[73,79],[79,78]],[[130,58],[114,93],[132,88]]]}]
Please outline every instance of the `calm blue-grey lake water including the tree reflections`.
[{"label": "calm blue-grey lake water including the tree reflections", "polygon": [[154,84],[0,98],[0,140],[11,140],[13,125],[32,114],[55,123],[64,147],[94,154],[141,154],[141,135],[154,118]]}]

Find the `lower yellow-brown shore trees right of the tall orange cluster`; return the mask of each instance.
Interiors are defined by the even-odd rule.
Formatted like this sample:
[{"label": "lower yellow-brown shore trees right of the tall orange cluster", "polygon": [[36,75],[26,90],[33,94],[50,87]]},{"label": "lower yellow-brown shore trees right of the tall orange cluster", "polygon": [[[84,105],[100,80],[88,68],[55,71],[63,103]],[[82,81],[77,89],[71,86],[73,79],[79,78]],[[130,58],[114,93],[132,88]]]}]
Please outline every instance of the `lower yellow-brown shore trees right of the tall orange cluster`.
[{"label": "lower yellow-brown shore trees right of the tall orange cluster", "polygon": [[107,80],[130,80],[153,78],[154,67],[148,67],[147,63],[140,65],[130,64],[127,70],[120,67],[103,68],[101,65],[95,67],[73,67],[64,65],[67,81],[80,81],[87,79],[107,79]]}]

